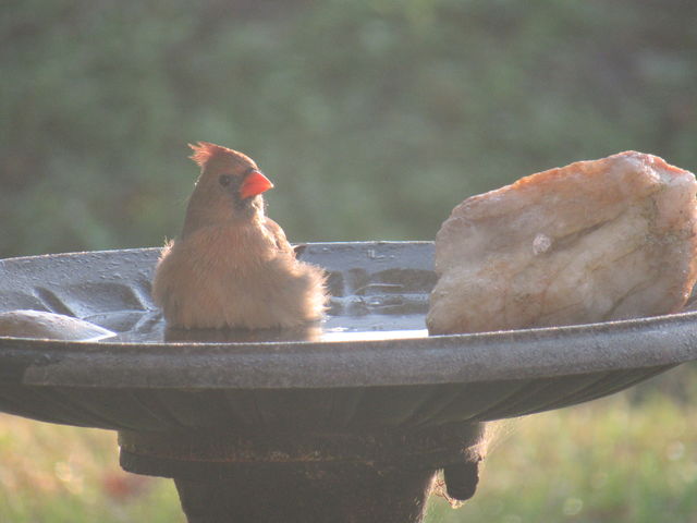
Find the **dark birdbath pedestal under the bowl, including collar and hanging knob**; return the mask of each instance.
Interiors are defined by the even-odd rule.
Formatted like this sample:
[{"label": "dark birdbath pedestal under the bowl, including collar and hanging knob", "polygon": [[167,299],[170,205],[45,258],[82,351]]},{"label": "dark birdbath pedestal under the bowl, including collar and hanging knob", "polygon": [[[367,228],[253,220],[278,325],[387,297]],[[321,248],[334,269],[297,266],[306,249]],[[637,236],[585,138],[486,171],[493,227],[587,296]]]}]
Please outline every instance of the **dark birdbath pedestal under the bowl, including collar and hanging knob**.
[{"label": "dark birdbath pedestal under the bowl, including collar and hanging knob", "polygon": [[481,424],[419,431],[119,433],[121,465],[171,477],[189,523],[423,519],[436,473],[477,485]]}]

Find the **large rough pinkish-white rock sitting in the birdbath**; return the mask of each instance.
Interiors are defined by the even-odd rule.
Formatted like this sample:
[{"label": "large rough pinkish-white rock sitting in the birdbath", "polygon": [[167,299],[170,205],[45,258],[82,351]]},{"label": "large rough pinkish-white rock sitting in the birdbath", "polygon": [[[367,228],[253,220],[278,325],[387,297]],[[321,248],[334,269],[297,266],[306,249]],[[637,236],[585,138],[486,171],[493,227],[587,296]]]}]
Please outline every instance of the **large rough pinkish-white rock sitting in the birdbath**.
[{"label": "large rough pinkish-white rock sitting in the birdbath", "polygon": [[674,313],[697,279],[697,183],[626,151],[460,204],[436,239],[432,335]]}]

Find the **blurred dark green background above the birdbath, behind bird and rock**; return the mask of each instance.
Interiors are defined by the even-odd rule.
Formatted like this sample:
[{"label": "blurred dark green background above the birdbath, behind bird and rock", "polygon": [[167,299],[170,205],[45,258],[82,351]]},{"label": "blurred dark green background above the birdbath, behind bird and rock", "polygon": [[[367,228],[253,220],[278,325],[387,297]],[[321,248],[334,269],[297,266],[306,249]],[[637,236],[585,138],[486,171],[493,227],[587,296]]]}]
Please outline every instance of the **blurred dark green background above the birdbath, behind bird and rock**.
[{"label": "blurred dark green background above the birdbath, behind bird and rock", "polygon": [[620,150],[697,170],[697,4],[10,0],[0,256],[179,233],[189,142],[292,241],[428,240],[465,197]]}]

